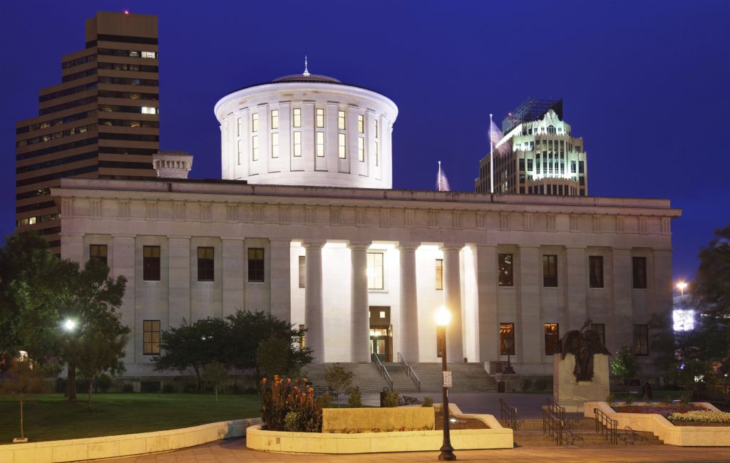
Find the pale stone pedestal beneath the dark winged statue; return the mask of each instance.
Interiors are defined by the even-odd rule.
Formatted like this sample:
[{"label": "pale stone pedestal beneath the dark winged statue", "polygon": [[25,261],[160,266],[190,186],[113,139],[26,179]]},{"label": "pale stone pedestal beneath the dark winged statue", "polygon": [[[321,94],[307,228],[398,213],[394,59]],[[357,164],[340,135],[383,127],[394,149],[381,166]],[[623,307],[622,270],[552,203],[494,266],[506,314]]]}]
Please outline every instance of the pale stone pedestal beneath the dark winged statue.
[{"label": "pale stone pedestal beneath the dark winged statue", "polygon": [[553,402],[568,413],[583,413],[584,402],[603,402],[609,394],[608,356],[593,355],[593,381],[576,381],[575,355],[553,355]]}]

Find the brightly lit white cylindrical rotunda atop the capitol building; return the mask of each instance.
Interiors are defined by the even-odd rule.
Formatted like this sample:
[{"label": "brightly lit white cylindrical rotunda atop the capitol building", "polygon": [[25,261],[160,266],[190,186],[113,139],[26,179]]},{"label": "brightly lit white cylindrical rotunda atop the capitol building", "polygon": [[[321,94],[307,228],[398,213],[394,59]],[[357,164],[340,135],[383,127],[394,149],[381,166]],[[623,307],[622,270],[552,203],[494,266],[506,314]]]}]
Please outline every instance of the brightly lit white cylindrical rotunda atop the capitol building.
[{"label": "brightly lit white cylindrical rotunda atop the capitol building", "polygon": [[391,188],[396,104],[320,74],[291,74],[224,96],[223,179],[250,184]]}]

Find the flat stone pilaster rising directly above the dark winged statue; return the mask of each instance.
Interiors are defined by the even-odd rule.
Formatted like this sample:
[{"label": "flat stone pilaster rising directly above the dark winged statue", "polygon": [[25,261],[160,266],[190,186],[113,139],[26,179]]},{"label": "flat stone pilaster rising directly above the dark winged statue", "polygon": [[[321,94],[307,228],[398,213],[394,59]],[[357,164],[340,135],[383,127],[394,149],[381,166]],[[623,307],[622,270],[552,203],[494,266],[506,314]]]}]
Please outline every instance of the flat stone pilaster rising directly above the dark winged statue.
[{"label": "flat stone pilaster rising directly above the dark winged statue", "polygon": [[560,321],[560,335],[569,330],[580,330],[587,318],[585,301],[588,265],[585,264],[585,247],[566,246],[565,254],[568,316],[566,320]]}]

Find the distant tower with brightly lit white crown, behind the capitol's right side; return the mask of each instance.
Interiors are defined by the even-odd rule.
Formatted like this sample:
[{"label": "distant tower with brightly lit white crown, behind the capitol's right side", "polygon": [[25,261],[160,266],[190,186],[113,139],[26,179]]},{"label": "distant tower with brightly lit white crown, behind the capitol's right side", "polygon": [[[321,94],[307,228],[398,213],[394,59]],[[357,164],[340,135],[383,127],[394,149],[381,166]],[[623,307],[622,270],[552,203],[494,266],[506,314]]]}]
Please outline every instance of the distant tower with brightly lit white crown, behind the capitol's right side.
[{"label": "distant tower with brightly lit white crown, behind the capitol's right side", "polygon": [[[588,166],[582,138],[563,120],[562,100],[530,99],[502,121],[493,150],[495,193],[585,196]],[[490,192],[490,156],[479,163],[477,192]]]}]

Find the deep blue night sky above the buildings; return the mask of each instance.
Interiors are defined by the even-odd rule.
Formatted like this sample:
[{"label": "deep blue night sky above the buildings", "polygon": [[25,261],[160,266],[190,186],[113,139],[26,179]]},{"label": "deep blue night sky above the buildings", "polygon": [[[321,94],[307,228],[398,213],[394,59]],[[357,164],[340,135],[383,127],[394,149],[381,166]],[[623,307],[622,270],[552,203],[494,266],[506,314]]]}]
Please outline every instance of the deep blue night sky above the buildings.
[{"label": "deep blue night sky above the buildings", "polygon": [[0,234],[15,226],[15,122],[60,82],[96,11],[158,15],[161,148],[219,178],[219,98],[310,71],[393,99],[396,188],[473,190],[488,114],[564,98],[591,195],[669,198],[677,279],[730,222],[730,1],[0,1]]}]

